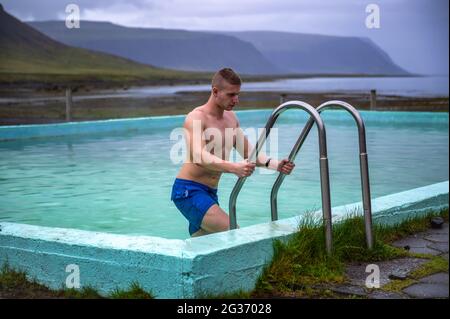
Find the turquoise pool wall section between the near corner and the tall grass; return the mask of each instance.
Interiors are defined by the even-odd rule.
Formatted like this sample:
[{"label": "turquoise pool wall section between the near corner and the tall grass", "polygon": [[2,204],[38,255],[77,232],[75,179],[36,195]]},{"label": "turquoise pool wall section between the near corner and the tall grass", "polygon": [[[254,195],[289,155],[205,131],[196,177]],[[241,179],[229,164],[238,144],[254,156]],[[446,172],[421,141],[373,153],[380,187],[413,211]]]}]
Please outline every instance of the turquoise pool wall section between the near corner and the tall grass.
[{"label": "turquoise pool wall section between the near corner and the tall grass", "polygon": [[183,279],[185,297],[205,298],[254,289],[273,257],[273,241],[294,233],[292,221],[259,224],[245,229],[186,240],[191,267]]}]

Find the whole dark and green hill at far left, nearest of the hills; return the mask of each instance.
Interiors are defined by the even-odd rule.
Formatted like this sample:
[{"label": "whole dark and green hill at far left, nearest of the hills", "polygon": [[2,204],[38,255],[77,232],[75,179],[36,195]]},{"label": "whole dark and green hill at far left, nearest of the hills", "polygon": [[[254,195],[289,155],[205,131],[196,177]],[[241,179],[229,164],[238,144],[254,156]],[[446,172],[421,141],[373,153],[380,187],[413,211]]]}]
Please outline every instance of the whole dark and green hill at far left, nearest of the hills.
[{"label": "whole dark and green hill at far left, nearest of the hills", "polygon": [[195,76],[73,48],[50,39],[0,5],[0,82],[61,80],[160,80]]}]

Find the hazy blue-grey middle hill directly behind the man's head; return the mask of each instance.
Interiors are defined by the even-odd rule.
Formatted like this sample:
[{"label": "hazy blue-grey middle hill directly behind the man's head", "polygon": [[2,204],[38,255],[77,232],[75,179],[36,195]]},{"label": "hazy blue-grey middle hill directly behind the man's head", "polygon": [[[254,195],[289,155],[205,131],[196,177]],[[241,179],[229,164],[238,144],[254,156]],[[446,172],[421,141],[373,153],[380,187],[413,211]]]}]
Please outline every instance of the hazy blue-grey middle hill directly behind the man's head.
[{"label": "hazy blue-grey middle hill directly behind the man's head", "polygon": [[81,21],[79,29],[68,29],[63,21],[30,22],[29,25],[68,45],[163,68],[216,71],[232,67],[242,74],[254,75],[281,72],[252,44],[222,34],[128,28],[90,21]]}]

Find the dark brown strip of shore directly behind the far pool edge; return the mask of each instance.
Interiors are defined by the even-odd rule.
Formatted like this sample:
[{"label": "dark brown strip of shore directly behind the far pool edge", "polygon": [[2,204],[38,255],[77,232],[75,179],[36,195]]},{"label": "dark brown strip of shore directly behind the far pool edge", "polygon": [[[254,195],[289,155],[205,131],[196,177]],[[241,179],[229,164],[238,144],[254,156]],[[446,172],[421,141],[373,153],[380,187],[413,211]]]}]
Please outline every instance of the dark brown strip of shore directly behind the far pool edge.
[{"label": "dark brown strip of shore directly behind the far pool edge", "polygon": [[[92,121],[161,115],[183,115],[207,101],[209,92],[179,92],[160,97],[107,97],[77,100],[74,93],[72,121]],[[41,96],[42,97],[42,96]],[[358,110],[370,110],[370,92],[249,92],[243,91],[236,111],[273,109],[281,100],[301,100],[313,106],[343,100]],[[376,111],[447,112],[449,97],[378,95]],[[49,100],[0,103],[0,125],[64,123],[64,96]]]}]

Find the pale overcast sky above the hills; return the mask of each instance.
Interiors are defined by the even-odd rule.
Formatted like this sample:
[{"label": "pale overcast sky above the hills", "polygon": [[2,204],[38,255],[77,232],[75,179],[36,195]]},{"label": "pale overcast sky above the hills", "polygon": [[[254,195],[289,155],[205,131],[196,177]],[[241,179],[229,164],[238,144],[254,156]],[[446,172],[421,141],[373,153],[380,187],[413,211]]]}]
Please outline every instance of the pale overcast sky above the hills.
[{"label": "pale overcast sky above the hills", "polygon": [[[186,30],[276,30],[372,39],[411,72],[448,74],[449,0],[0,0],[27,21],[64,20],[69,3],[82,20]],[[368,4],[380,28],[368,29]]]}]

